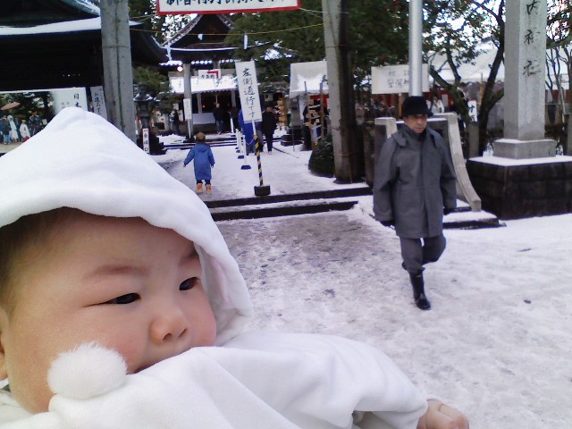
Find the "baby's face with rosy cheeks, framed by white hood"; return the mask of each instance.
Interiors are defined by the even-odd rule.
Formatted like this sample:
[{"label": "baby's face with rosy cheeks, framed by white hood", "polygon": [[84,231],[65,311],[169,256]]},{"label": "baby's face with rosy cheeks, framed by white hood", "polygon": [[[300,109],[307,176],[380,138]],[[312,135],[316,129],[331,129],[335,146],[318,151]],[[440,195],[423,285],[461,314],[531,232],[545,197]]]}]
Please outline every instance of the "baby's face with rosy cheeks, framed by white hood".
[{"label": "baby's face with rosy cheeks, framed by white hood", "polygon": [[82,215],[38,255],[25,261],[13,314],[0,310],[0,378],[29,411],[47,410],[50,364],[81,343],[117,350],[130,373],[214,345],[197,252],[174,231]]}]

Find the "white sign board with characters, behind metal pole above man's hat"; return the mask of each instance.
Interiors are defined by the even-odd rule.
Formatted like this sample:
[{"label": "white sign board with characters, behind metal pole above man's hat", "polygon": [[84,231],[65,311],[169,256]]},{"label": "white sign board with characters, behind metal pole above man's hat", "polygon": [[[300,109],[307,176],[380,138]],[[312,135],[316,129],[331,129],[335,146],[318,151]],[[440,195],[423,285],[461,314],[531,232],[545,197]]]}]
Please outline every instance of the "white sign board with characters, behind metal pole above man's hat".
[{"label": "white sign board with characters, behind metal pole above man's hat", "polygon": [[[429,90],[429,64],[423,64],[421,90]],[[409,66],[384,65],[372,67],[372,94],[399,94],[409,92]]]}]

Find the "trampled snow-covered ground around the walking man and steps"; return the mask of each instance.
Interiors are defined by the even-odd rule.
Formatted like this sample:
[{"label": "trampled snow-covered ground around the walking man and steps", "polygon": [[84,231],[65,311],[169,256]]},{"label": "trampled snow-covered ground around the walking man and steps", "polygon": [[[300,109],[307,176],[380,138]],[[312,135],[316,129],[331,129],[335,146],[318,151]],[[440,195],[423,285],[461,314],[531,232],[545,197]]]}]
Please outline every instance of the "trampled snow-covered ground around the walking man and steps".
[{"label": "trampled snow-covered ground around the walking man and steps", "polygon": [[[262,154],[273,194],[340,185],[307,171],[309,152]],[[233,147],[213,147],[213,194],[253,197]],[[282,151],[282,152],[281,152]],[[187,151],[154,156],[194,189]],[[446,230],[428,265],[433,308],[418,310],[394,231],[370,216],[371,197],[347,212],[218,223],[250,288],[252,328],[323,332],[366,341],[427,394],[463,410],[472,428],[572,427],[572,214]]]}]

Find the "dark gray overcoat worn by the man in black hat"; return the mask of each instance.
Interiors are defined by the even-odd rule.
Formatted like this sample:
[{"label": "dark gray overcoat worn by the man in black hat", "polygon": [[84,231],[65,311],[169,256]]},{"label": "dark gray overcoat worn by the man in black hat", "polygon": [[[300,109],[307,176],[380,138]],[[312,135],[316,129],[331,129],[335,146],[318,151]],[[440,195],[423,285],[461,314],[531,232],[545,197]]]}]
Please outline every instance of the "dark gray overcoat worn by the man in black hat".
[{"label": "dark gray overcoat worn by the man in black hat", "polygon": [[435,131],[425,141],[404,125],[382,147],[374,172],[374,215],[395,221],[399,237],[420,239],[442,233],[443,208],[457,206],[450,149]]}]

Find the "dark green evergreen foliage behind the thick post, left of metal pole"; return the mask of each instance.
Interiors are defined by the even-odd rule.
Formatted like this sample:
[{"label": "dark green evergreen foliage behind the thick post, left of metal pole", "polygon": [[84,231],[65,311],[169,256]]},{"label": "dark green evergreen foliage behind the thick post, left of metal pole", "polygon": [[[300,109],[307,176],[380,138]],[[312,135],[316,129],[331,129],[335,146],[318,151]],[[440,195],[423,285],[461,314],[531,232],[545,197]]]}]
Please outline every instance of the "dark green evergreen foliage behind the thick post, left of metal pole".
[{"label": "dark green evergreen foliage behind the thick post, left of metal pole", "polygon": [[[283,81],[290,74],[290,63],[325,57],[321,0],[302,0],[298,10],[243,13],[232,19],[235,26],[226,44],[240,47],[237,59],[254,59],[264,67],[263,80]],[[373,65],[408,62],[408,3],[349,0],[349,35],[354,83],[359,87]]]}]

